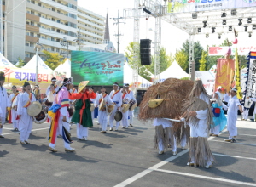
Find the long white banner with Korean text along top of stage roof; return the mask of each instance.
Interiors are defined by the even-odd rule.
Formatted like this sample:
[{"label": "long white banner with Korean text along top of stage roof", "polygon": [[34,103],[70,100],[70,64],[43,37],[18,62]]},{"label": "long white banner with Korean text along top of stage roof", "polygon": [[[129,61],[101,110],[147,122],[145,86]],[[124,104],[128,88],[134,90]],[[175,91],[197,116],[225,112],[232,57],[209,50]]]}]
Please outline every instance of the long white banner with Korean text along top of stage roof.
[{"label": "long white banner with Korean text along top of stage roof", "polygon": [[168,0],[169,13],[256,7],[256,0]]}]

